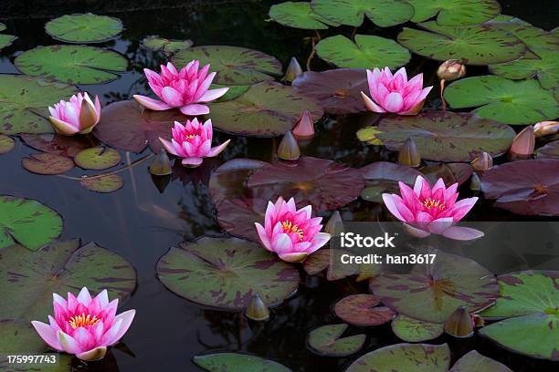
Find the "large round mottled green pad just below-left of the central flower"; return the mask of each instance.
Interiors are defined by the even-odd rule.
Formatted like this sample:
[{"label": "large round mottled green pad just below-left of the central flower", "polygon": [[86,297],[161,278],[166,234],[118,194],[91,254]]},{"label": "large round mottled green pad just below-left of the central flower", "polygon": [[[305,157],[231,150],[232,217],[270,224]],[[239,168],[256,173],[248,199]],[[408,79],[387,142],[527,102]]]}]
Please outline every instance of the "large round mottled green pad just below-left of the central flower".
[{"label": "large round mottled green pad just below-left of the central flower", "polygon": [[169,290],[197,304],[242,310],[253,294],[279,305],[299,285],[297,269],[257,243],[204,237],[173,247],[157,263]]}]

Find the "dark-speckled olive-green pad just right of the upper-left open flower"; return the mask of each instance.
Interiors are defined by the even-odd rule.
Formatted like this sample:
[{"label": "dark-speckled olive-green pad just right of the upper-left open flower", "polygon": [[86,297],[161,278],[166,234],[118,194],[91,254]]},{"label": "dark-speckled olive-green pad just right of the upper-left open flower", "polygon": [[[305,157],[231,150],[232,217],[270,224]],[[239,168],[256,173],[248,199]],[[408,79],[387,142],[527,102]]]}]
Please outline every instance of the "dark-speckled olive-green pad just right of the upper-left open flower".
[{"label": "dark-speckled olive-green pad just right of the upper-left open flower", "polygon": [[214,127],[227,132],[258,136],[280,136],[295,126],[304,109],[315,119],[322,107],[315,98],[276,82],[253,85],[240,97],[210,105]]}]

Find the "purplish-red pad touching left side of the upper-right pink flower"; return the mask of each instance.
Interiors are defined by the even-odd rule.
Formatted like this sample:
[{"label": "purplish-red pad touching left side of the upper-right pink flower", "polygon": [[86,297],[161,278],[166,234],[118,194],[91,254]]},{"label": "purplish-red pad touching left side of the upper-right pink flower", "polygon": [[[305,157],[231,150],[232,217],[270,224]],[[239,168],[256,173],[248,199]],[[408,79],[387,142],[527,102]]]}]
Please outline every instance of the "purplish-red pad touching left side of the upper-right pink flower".
[{"label": "purplish-red pad touching left side of the upper-right pink flower", "polygon": [[368,92],[367,74],[360,68],[307,71],[293,80],[291,87],[314,97],[327,114],[341,115],[365,111],[361,92]]}]

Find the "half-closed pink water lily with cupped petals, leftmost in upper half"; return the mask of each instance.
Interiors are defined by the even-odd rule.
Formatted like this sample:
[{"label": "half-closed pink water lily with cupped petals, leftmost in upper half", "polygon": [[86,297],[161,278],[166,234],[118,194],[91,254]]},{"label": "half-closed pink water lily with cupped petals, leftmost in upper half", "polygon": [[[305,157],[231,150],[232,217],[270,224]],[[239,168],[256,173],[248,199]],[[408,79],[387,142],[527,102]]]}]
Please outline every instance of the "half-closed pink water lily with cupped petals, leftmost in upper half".
[{"label": "half-closed pink water lily with cupped petals, leftmost in upper half", "polygon": [[99,123],[100,101],[95,96],[95,103],[87,93],[78,93],[70,97],[69,102],[60,100],[54,109],[48,107],[50,123],[59,134],[73,136],[76,133],[86,134]]}]

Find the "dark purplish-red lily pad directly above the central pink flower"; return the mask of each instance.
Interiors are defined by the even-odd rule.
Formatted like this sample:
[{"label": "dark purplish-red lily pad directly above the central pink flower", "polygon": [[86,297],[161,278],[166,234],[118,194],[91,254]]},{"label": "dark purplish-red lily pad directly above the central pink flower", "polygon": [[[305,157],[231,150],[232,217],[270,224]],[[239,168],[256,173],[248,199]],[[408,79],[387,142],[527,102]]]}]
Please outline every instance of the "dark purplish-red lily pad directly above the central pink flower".
[{"label": "dark purplish-red lily pad directly above the central pink flower", "polygon": [[248,179],[253,197],[275,201],[291,197],[318,211],[335,210],[353,202],[364,188],[361,171],[332,160],[303,157],[296,164],[271,163]]}]

